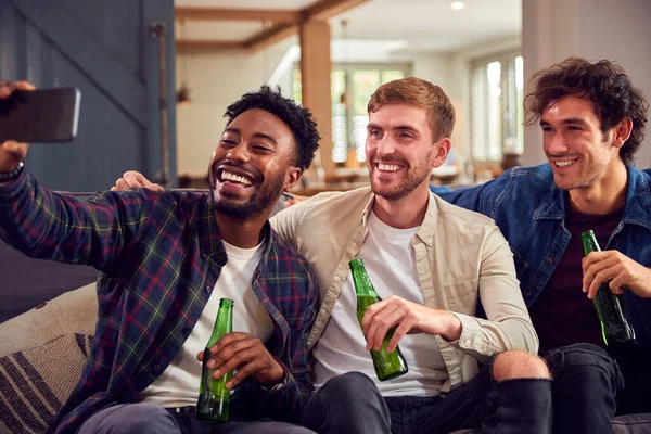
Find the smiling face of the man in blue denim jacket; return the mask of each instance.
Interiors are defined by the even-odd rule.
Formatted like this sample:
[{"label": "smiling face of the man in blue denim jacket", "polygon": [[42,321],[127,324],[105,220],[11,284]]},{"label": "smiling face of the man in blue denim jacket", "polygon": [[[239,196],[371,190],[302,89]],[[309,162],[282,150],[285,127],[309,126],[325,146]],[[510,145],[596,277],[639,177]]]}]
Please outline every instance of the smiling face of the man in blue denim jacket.
[{"label": "smiling face of the man in blue denim jacket", "polygon": [[603,135],[592,102],[566,95],[540,117],[542,145],[561,190],[595,187],[614,165],[622,165],[613,131]]}]

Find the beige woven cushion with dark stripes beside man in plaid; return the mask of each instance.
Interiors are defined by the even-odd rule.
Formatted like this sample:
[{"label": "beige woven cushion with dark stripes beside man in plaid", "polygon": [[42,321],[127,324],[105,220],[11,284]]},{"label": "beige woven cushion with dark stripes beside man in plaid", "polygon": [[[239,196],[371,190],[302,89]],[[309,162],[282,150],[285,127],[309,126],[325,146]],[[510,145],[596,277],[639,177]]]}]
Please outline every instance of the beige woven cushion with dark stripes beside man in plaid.
[{"label": "beige woven cushion with dark stripes beside man in plaid", "polygon": [[44,433],[79,381],[97,321],[95,284],[0,324],[0,433]]}]

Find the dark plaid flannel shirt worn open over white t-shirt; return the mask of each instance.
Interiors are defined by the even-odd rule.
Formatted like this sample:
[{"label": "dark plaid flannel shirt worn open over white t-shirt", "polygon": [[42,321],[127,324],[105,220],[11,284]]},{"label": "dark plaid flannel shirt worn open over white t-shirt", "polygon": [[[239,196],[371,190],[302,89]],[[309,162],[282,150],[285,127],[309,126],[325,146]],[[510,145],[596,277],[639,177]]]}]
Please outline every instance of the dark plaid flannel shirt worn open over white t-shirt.
[{"label": "dark plaid flannel shirt worn open over white t-shirt", "polygon": [[[288,382],[269,391],[246,379],[232,396],[231,416],[296,421],[311,392],[306,341],[318,289],[307,261],[269,224],[264,231],[252,286],[273,322],[265,345]],[[51,426],[58,433],[138,398],[180,350],[227,260],[208,195],[139,189],[84,201],[25,174],[0,184],[0,237],[29,256],[102,271],[93,348]]]}]

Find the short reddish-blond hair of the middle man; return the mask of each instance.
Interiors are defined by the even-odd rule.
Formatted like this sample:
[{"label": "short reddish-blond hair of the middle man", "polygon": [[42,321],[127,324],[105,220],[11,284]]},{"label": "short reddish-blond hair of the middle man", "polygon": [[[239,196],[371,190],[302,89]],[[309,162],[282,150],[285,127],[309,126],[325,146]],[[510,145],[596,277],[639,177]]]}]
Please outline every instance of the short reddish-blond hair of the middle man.
[{"label": "short reddish-blond hair of the middle man", "polygon": [[373,92],[367,110],[371,114],[386,104],[409,104],[425,108],[434,141],[452,135],[455,107],[443,89],[430,81],[416,77],[388,81]]}]

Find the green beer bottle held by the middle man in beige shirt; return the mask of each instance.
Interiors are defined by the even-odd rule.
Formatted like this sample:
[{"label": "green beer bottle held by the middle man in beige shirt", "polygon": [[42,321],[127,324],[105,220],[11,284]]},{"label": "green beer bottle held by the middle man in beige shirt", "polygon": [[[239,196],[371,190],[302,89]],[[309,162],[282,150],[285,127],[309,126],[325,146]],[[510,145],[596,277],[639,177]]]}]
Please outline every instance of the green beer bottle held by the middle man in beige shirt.
[{"label": "green beer bottle held by the middle man in beige shirt", "polygon": [[[369,306],[380,302],[382,298],[375,292],[361,259],[353,259],[348,263],[348,266],[353,272],[353,282],[355,283],[355,292],[357,294],[357,320],[359,321],[359,326],[361,326],[363,314],[366,314]],[[380,350],[371,349],[373,368],[380,381],[395,379],[407,373],[409,370],[407,360],[405,360],[403,353],[400,353],[400,347],[396,347],[391,353],[386,352],[386,346],[394,331],[395,327],[388,330],[386,336],[384,336],[384,341],[382,341],[382,348]]]}]

